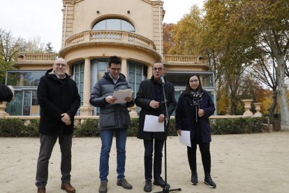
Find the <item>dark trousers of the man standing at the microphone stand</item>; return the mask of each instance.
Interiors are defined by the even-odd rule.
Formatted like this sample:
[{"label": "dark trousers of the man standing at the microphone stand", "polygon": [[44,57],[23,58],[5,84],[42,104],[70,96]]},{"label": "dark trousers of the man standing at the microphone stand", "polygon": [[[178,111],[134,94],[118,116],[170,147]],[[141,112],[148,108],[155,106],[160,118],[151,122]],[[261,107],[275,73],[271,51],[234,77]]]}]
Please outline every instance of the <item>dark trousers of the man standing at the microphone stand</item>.
[{"label": "dark trousers of the man standing at the microphone stand", "polygon": [[163,140],[144,140],[144,178],[152,179],[154,152],[154,179],[161,177],[161,162],[163,158]]}]

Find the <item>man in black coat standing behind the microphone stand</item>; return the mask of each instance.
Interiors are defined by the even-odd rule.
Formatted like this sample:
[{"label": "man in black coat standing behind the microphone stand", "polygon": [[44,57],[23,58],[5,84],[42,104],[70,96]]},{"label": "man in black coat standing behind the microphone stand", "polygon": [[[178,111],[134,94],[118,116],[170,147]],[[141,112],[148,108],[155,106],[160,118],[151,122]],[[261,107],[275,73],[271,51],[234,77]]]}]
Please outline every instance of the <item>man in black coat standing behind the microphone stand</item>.
[{"label": "man in black coat standing behind the microphone stand", "polygon": [[[156,63],[153,66],[153,76],[151,79],[140,83],[140,88],[135,98],[135,104],[142,108],[140,111],[138,138],[144,140],[144,191],[151,192],[152,179],[152,155],[154,152],[154,185],[164,187],[165,181],[161,178],[161,163],[163,157],[163,143],[165,132],[144,131],[145,115],[158,116],[158,122],[165,120],[165,106],[163,99],[163,87],[161,76],[165,75],[163,64]],[[175,87],[165,80],[165,98],[167,99],[168,115],[172,115],[177,102],[175,100]],[[168,185],[170,187],[170,185]]]}]

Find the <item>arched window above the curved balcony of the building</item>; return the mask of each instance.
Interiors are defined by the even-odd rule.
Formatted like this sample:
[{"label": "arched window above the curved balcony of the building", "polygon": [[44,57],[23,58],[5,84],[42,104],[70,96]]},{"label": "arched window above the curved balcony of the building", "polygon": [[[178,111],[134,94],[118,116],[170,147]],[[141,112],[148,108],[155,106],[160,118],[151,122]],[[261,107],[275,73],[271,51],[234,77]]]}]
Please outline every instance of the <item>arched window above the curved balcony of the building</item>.
[{"label": "arched window above the curved balcony of the building", "polygon": [[92,29],[93,30],[109,29],[109,30],[135,32],[135,27],[133,27],[133,25],[130,22],[117,18],[101,20],[100,22],[94,24],[94,27],[92,27]]}]

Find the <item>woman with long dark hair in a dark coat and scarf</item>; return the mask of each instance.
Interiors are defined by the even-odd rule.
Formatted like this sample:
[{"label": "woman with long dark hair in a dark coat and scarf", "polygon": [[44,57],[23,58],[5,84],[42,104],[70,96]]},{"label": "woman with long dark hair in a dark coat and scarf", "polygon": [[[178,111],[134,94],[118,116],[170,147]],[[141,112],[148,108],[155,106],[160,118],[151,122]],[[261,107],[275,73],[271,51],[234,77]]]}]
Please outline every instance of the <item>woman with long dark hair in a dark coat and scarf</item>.
[{"label": "woman with long dark hair in a dark coat and scarf", "polygon": [[202,89],[200,77],[192,75],[186,81],[186,90],[179,96],[177,103],[175,122],[177,133],[181,130],[191,131],[191,147],[187,147],[188,164],[191,168],[191,183],[198,185],[198,173],[196,164],[196,150],[199,145],[202,155],[202,166],[205,171],[204,183],[215,188],[216,184],[211,178],[211,155],[209,143],[211,139],[211,127],[209,116],[214,113],[215,107],[211,96]]}]

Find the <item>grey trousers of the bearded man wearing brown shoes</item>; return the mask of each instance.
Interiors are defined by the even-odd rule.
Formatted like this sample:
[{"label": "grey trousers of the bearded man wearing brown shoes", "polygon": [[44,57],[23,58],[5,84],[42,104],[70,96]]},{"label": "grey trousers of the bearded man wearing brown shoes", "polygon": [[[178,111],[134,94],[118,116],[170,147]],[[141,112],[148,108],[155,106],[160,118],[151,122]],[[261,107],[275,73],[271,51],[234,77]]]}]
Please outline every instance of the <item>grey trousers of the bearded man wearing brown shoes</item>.
[{"label": "grey trousers of the bearded man wearing brown shoes", "polygon": [[47,136],[40,134],[40,151],[35,183],[38,188],[45,187],[47,184],[49,159],[57,138],[61,150],[61,183],[71,183],[72,134],[64,136]]}]

